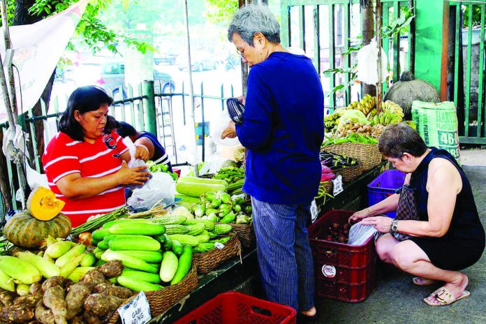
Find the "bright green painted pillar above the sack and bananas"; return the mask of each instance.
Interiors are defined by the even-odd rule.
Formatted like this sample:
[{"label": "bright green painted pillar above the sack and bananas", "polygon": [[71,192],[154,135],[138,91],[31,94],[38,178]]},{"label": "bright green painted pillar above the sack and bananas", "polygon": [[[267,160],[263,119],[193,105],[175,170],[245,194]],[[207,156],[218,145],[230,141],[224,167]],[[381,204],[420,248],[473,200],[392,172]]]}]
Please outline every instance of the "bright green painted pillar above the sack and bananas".
[{"label": "bright green painted pillar above the sack and bananas", "polygon": [[441,88],[443,0],[415,0],[415,78]]}]

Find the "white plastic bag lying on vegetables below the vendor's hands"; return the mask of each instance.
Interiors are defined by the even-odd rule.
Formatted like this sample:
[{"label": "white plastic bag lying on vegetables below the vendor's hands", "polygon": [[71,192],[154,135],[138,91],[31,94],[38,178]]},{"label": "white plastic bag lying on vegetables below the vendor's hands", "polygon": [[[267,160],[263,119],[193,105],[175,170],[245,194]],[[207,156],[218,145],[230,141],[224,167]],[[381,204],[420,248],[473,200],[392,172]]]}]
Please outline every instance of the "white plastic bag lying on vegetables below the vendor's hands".
[{"label": "white plastic bag lying on vegetables below the vendor's hands", "polygon": [[142,188],[135,189],[126,203],[134,209],[150,209],[156,202],[170,205],[174,202],[175,182],[168,173],[154,172]]}]

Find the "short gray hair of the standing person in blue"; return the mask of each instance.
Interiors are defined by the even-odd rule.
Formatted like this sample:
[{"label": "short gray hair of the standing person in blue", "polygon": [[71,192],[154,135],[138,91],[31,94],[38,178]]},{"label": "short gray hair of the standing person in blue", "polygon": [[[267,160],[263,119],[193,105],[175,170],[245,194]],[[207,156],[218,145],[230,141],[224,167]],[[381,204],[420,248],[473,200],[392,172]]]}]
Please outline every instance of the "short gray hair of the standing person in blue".
[{"label": "short gray hair of the standing person in blue", "polygon": [[233,41],[234,33],[251,46],[256,33],[262,33],[272,43],[280,43],[279,23],[266,5],[251,4],[240,8],[228,27],[230,42]]}]

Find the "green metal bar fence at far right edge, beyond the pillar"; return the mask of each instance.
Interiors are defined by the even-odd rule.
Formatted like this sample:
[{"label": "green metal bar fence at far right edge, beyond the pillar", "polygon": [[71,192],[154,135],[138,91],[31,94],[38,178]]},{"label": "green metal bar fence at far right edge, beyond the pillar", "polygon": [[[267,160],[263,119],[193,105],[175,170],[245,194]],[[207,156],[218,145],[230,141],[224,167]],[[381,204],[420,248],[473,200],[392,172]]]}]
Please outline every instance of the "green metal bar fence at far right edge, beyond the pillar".
[{"label": "green metal bar fence at far right edge, beyond the pillar", "polygon": [[486,145],[486,1],[449,1],[449,4],[448,100],[457,107],[459,142]]}]

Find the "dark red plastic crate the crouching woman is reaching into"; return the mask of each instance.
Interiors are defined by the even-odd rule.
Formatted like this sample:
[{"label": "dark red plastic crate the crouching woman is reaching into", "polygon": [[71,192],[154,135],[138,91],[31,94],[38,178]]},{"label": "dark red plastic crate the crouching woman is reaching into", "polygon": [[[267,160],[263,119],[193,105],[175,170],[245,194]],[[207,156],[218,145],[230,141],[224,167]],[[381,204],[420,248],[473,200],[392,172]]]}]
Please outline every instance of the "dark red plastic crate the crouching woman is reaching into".
[{"label": "dark red plastic crate the crouching woman is reaching into", "polygon": [[373,237],[358,246],[322,239],[332,223],[347,223],[353,213],[330,210],[307,229],[319,297],[362,302],[378,282]]}]

